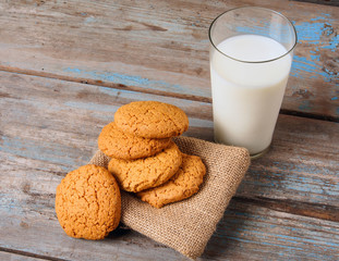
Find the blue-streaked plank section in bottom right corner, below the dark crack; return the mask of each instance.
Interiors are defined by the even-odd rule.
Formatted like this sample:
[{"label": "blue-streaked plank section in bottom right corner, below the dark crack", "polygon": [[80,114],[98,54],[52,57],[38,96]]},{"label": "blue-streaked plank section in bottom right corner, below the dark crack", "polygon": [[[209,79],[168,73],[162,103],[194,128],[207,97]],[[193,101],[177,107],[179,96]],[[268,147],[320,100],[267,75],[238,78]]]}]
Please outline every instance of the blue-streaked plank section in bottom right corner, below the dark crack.
[{"label": "blue-streaked plank section in bottom right corner, below the dark crack", "polygon": [[338,233],[336,222],[323,223],[232,200],[203,257],[213,260],[221,257],[228,260],[338,260]]}]

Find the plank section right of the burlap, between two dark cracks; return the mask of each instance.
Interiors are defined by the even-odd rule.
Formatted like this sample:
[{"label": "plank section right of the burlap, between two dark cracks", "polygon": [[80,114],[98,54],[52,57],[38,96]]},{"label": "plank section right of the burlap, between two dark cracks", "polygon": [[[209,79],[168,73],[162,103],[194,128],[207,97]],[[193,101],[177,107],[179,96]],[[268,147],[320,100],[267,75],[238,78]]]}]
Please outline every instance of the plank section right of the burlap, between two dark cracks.
[{"label": "plank section right of the burlap, between two dark cracks", "polygon": [[339,123],[280,115],[270,151],[253,162],[239,195],[339,207],[338,140]]}]

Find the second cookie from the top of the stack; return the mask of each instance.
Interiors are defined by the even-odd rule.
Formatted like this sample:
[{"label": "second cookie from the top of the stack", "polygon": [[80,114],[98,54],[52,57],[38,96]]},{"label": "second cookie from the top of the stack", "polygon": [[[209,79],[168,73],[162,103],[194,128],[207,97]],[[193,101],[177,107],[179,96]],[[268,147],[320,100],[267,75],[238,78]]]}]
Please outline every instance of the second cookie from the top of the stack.
[{"label": "second cookie from the top of the stack", "polygon": [[106,125],[98,138],[99,149],[108,157],[135,160],[150,157],[170,145],[171,139],[142,138],[120,130],[114,122]]}]

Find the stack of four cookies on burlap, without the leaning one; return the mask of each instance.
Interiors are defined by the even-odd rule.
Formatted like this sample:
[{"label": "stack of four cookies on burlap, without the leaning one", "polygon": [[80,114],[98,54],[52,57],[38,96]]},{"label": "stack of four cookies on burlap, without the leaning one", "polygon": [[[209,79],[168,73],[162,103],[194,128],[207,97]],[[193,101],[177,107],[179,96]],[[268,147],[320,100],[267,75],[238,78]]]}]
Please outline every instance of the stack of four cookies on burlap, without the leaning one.
[{"label": "stack of four cookies on burlap, without the leaning one", "polygon": [[182,153],[171,140],[187,128],[189,119],[178,107],[136,101],[118,109],[98,146],[111,158],[108,171],[121,189],[161,208],[197,192],[206,173],[198,157]]}]

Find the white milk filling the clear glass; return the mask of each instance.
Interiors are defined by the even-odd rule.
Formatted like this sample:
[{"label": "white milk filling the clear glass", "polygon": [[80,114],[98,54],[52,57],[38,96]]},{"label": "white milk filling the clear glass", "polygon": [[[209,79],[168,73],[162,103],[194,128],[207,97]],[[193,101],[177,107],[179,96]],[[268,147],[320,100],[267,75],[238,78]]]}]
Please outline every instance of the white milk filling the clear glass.
[{"label": "white milk filling the clear glass", "polygon": [[292,54],[258,35],[228,38],[217,49],[210,51],[215,139],[259,153],[271,142]]}]

